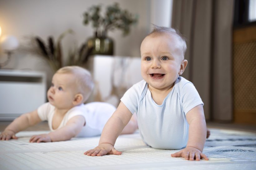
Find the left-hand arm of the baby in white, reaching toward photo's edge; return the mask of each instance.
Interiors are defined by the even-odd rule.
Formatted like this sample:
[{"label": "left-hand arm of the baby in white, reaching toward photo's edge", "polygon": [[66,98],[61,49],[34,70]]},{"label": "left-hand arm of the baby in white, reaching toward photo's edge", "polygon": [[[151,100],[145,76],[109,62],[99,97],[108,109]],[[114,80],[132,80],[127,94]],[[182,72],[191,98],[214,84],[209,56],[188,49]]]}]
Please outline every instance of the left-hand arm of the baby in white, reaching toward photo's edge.
[{"label": "left-hand arm of the baby in white, reaching toward photo's edge", "polygon": [[33,126],[39,122],[41,122],[41,119],[37,114],[37,110],[22,114],[5,128],[5,130],[0,134],[0,140],[9,140],[12,138],[17,139],[15,136],[17,132],[22,131],[27,127]]}]

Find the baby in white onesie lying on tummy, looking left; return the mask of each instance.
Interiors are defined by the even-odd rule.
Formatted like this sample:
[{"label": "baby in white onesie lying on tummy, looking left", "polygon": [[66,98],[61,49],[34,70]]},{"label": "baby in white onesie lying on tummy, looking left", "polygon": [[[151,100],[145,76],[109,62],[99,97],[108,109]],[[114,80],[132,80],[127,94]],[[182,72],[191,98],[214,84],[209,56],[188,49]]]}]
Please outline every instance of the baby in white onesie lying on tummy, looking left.
[{"label": "baby in white onesie lying on tummy, looking left", "polygon": [[[86,69],[78,66],[62,67],[52,77],[52,86],[47,92],[49,102],[15,119],[0,134],[0,140],[17,139],[17,132],[46,120],[51,132],[34,135],[30,142],[53,142],[100,135],[116,108],[103,102],[83,104],[93,86],[91,74]],[[122,133],[133,133],[136,128],[134,118]]]}]

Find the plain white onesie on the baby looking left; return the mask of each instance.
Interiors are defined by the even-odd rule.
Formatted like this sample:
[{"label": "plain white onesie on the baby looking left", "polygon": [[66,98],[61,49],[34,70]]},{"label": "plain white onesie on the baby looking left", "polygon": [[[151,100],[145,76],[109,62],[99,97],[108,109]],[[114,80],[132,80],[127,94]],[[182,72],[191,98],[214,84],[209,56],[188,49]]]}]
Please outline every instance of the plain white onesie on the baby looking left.
[{"label": "plain white onesie on the baby looking left", "polygon": [[55,113],[55,107],[53,105],[49,102],[44,103],[37,109],[37,113],[42,121],[48,121],[51,131],[62,128],[72,117],[81,115],[85,118],[86,124],[76,137],[91,137],[101,135],[103,127],[115,110],[116,108],[109,103],[91,102],[81,104],[67,111],[59,127],[55,130],[52,129],[52,118]]}]

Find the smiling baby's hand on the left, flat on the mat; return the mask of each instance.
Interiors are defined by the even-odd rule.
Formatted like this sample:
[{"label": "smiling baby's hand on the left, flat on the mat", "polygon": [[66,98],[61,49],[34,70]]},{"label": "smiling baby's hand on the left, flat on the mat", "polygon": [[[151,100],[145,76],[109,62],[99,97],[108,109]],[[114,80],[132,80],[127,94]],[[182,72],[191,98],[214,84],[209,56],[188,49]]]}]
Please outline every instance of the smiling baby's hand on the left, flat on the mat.
[{"label": "smiling baby's hand on the left, flat on the mat", "polygon": [[103,156],[106,154],[121,155],[122,152],[116,150],[113,145],[106,143],[100,144],[94,149],[87,150],[84,154],[88,156]]}]

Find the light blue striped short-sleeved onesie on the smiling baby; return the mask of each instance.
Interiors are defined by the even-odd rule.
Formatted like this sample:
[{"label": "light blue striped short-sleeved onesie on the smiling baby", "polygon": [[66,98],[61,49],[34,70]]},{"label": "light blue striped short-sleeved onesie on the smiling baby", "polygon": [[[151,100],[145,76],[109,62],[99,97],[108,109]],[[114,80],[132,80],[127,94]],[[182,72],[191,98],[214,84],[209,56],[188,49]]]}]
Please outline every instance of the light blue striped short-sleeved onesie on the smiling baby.
[{"label": "light blue striped short-sleeved onesie on the smiling baby", "polygon": [[127,90],[121,101],[131,113],[137,113],[140,136],[156,149],[184,148],[189,127],[186,113],[204,104],[194,85],[183,77],[178,77],[161,105],[151,97],[145,80]]}]

